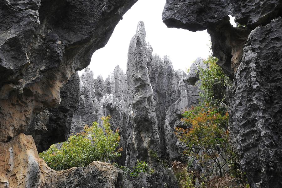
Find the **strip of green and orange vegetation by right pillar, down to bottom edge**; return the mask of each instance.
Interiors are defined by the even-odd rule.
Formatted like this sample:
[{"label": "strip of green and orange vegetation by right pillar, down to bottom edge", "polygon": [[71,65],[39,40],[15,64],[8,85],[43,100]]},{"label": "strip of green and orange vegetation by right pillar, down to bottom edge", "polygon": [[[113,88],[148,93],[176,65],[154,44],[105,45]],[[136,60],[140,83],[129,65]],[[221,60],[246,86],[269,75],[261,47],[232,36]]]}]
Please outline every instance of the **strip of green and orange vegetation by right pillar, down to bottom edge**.
[{"label": "strip of green and orange vegetation by right pillar, down to bottom edge", "polygon": [[[207,69],[199,68],[201,102],[183,113],[183,127],[176,127],[175,134],[186,149],[183,155],[189,165],[175,171],[182,188],[213,187],[219,181],[232,182],[232,187],[243,187],[244,174],[238,155],[228,142],[230,79],[209,56]],[[196,161],[201,170],[195,169]],[[215,168],[216,167],[216,168]],[[218,172],[217,172],[218,171]],[[197,182],[197,183],[196,183]]]}]

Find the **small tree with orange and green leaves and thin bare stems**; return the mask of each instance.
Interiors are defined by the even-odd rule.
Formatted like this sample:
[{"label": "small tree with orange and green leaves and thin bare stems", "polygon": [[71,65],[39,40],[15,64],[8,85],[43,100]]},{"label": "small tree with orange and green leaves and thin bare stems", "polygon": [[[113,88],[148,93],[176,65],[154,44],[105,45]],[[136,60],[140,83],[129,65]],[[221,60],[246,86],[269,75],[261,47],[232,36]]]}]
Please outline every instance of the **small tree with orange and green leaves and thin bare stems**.
[{"label": "small tree with orange and green leaves and thin bare stems", "polygon": [[[190,128],[178,127],[175,132],[187,144],[186,154],[197,158],[211,158],[217,164],[220,176],[223,175],[222,167],[226,163],[238,163],[237,155],[228,142],[228,119],[225,108],[208,105],[192,107],[183,114],[182,119]],[[194,148],[201,149],[202,154],[193,153]],[[224,160],[223,163],[220,158]]]}]

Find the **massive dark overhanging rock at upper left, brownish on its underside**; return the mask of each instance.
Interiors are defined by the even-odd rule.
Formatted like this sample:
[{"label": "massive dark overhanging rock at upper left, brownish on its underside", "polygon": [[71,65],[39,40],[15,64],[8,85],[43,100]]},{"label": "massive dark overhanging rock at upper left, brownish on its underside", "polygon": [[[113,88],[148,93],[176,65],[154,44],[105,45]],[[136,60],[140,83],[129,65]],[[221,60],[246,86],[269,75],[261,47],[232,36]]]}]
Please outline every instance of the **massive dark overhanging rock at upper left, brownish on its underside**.
[{"label": "massive dark overhanging rock at upper left, brownish on its underside", "polygon": [[1,142],[60,104],[60,89],[89,65],[136,1],[0,1]]}]

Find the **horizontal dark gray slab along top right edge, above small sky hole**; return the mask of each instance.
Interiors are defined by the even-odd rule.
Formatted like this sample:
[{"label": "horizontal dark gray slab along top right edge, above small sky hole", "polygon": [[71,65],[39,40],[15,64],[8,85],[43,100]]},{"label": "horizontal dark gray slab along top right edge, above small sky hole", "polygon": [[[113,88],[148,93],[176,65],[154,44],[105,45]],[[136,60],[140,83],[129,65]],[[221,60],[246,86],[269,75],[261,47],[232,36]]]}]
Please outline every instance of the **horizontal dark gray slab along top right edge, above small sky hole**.
[{"label": "horizontal dark gray slab along top right edge, above small sky hole", "polygon": [[281,15],[281,8],[279,0],[168,0],[162,19],[168,27],[198,31],[232,15],[236,22],[254,29]]}]

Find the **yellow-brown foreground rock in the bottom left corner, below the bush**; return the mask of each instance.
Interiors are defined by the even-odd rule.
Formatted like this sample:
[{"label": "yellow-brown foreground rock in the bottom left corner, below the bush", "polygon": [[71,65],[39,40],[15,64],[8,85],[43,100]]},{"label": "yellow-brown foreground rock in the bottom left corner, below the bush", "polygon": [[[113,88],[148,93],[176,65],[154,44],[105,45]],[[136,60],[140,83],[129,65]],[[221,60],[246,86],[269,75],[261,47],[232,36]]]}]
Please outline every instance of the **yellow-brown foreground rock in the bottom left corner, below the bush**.
[{"label": "yellow-brown foreground rock in the bottom left corner, below the bush", "polygon": [[39,158],[32,136],[20,134],[0,143],[0,187],[2,188],[116,188],[133,187],[120,169],[94,161],[86,167],[63,171],[50,169]]}]

